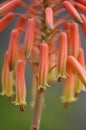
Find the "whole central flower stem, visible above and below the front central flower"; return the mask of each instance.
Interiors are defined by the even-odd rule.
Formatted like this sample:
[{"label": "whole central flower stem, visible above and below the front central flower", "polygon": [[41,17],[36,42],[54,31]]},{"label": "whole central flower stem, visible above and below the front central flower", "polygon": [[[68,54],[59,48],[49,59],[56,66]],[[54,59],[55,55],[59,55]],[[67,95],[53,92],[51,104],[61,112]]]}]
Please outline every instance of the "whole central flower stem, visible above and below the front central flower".
[{"label": "whole central flower stem, visible above and below the front central flower", "polygon": [[[43,0],[43,7],[44,9],[46,8],[45,0]],[[47,39],[47,28],[45,26],[45,13],[43,10],[43,29],[42,32],[45,34],[44,37],[42,37],[42,40],[48,41]],[[40,128],[40,122],[41,122],[41,116],[42,116],[42,111],[44,107],[44,92],[40,92],[37,89],[37,94],[36,94],[36,100],[35,100],[35,107],[33,111],[33,119],[32,119],[32,124],[30,130],[39,130]]]}]

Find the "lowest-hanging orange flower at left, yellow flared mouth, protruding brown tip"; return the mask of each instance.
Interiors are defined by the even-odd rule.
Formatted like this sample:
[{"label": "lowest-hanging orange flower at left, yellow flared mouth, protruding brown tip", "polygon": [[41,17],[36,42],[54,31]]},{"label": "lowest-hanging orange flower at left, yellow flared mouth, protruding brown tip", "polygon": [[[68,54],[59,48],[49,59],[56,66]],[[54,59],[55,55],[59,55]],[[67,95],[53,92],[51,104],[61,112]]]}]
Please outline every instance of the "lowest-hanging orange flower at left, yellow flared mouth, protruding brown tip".
[{"label": "lowest-hanging orange flower at left, yellow flared mouth, protruding brown tip", "polygon": [[20,111],[24,111],[26,105],[26,85],[25,85],[25,61],[19,60],[16,65],[16,101],[15,105],[20,105]]}]

